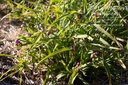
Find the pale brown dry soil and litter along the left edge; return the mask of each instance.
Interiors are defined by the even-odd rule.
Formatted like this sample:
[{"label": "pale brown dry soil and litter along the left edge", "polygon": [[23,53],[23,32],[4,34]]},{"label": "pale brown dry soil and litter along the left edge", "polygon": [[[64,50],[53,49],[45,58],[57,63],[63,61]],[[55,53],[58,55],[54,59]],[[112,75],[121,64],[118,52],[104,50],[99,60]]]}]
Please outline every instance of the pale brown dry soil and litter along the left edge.
[{"label": "pale brown dry soil and litter along the left edge", "polygon": [[[22,22],[16,19],[9,21],[8,16],[6,16],[8,12],[9,11],[7,10],[7,5],[0,4],[0,54],[16,55],[18,50],[15,48],[15,41],[18,35],[21,34],[20,26]],[[16,64],[16,59],[11,58],[9,56],[0,55],[0,77],[5,72],[12,69],[13,66],[15,66]],[[2,78],[5,78],[6,76],[8,77],[0,81],[0,85],[19,85],[19,72],[17,72],[13,76],[9,76],[11,72],[15,72],[16,70],[19,69],[11,70],[9,73],[3,76]],[[31,79],[28,79],[28,76],[26,76],[26,74],[22,74],[22,76],[22,85],[33,85],[33,81]]]}]

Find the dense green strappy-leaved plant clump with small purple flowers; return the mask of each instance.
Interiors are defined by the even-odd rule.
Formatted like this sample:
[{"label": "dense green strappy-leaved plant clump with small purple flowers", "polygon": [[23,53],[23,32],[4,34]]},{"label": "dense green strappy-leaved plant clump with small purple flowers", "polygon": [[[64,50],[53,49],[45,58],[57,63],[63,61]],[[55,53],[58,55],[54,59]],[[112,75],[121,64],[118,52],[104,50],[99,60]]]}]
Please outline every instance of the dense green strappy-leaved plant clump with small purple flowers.
[{"label": "dense green strappy-leaved plant clump with small purple flowers", "polygon": [[7,3],[12,8],[11,18],[23,21],[23,30],[27,31],[18,38],[21,54],[17,60],[21,72],[32,71],[34,75],[38,70],[45,70],[43,85],[57,85],[60,80],[68,80],[66,83],[72,85],[77,79],[88,85],[100,81],[100,73],[108,77],[109,85],[119,83],[118,70],[127,69],[125,2],[22,0]]}]

